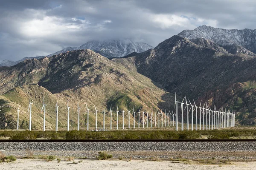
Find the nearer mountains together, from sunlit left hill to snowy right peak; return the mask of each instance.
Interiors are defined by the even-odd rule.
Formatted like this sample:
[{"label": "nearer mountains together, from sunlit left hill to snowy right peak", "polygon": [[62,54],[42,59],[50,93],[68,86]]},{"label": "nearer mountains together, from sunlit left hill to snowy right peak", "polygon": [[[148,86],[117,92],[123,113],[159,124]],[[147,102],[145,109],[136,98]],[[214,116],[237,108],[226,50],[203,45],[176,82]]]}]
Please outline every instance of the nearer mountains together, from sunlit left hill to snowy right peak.
[{"label": "nearer mountains together, from sunlit left hill to snowy right peak", "polygon": [[[135,106],[136,111],[172,110],[175,92],[179,101],[186,96],[195,99],[197,105],[202,101],[211,108],[233,110],[237,125],[255,125],[254,31],[201,26],[184,30],[154,49],[134,51],[125,57],[108,59],[92,50],[75,50],[0,67],[0,102],[5,102],[6,110],[10,108],[0,113],[5,123],[0,126],[15,126],[15,108],[20,104],[23,127],[27,127],[29,99],[34,101],[34,128],[39,129],[43,97],[48,101],[47,124],[52,128],[57,99],[64,114],[59,125],[65,127],[67,99],[73,101],[71,119],[75,126],[77,102],[83,109],[88,103],[92,113],[93,104],[99,110],[109,110],[110,105],[128,110]],[[90,118],[93,125],[94,116]]]}]

